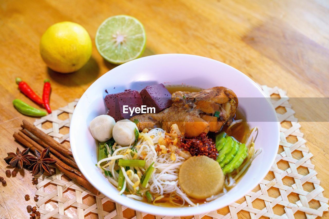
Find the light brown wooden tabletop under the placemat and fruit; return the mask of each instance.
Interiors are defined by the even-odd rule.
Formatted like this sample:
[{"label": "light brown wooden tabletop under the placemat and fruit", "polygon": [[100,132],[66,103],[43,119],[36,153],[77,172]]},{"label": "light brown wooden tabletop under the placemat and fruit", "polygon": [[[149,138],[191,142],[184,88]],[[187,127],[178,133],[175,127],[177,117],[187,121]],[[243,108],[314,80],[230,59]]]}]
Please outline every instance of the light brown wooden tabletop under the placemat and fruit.
[{"label": "light brown wooden tabletop under the placemat and fruit", "polygon": [[[53,109],[79,98],[93,81],[115,67],[98,54],[94,37],[102,21],[116,14],[129,14],[143,23],[145,56],[206,56],[237,68],[260,84],[279,86],[290,97],[329,96],[329,2],[325,0],[1,1],[0,176],[9,168],[2,160],[6,153],[23,148],[14,142],[13,132],[22,119],[34,121],[13,108],[15,98],[34,105],[19,92],[15,77],[23,78],[39,95],[43,80],[49,78]],[[60,21],[81,24],[93,42],[89,62],[72,74],[49,70],[39,55],[42,33]],[[329,123],[301,125],[323,194],[329,197]],[[34,206],[36,190],[31,173],[20,171],[6,180],[7,186],[0,185],[0,217],[29,217],[26,206]],[[24,200],[25,194],[30,194],[30,201]],[[245,212],[245,216],[249,214]]]}]

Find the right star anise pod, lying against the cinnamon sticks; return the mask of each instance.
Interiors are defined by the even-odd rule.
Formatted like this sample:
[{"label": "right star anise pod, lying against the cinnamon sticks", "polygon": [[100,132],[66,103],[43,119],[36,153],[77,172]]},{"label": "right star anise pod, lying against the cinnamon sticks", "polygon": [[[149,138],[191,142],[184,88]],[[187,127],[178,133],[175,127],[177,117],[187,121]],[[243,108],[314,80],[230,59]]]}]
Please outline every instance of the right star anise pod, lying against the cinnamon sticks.
[{"label": "right star anise pod, lying against the cinnamon sticks", "polygon": [[49,156],[49,147],[44,149],[41,152],[41,154],[36,149],[35,154],[37,155],[37,157],[33,157],[33,159],[31,159],[32,165],[30,166],[30,167],[33,167],[32,176],[37,175],[39,172],[41,174],[43,174],[43,171],[46,171],[47,173],[51,174],[48,165],[49,164],[55,164],[57,161],[55,161],[51,158],[48,158],[48,156]]}]

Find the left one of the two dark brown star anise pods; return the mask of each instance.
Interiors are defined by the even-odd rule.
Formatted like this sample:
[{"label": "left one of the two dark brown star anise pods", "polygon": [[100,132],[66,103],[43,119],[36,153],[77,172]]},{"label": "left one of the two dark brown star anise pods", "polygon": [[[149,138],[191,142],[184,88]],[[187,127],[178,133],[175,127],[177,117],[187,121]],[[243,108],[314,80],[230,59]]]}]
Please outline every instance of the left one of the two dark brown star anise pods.
[{"label": "left one of the two dark brown star anise pods", "polygon": [[32,155],[29,155],[30,148],[23,150],[22,152],[16,149],[16,154],[13,152],[7,153],[8,157],[4,158],[7,164],[15,167],[17,165],[18,169],[23,168],[23,164],[31,165],[30,161],[34,158]]}]

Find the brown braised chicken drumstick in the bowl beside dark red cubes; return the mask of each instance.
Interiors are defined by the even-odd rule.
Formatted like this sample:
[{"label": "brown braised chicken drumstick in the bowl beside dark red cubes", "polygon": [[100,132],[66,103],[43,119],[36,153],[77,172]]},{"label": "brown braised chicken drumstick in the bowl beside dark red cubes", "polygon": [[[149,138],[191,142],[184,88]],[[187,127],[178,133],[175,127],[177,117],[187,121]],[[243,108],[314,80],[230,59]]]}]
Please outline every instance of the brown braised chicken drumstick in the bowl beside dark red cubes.
[{"label": "brown braised chicken drumstick in the bowl beside dark red cubes", "polygon": [[186,137],[197,137],[201,133],[216,132],[225,123],[231,123],[238,106],[235,93],[226,87],[213,87],[200,92],[175,92],[171,107],[160,113],[137,115],[139,130],[163,128],[169,132],[177,124]]}]

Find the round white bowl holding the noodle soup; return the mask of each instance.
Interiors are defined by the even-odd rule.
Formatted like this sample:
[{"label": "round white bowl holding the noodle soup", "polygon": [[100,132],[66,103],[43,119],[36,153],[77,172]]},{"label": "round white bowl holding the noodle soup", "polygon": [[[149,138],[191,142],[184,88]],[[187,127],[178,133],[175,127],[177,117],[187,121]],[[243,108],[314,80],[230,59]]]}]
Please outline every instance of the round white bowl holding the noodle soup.
[{"label": "round white bowl holding the noodle soup", "polygon": [[[255,148],[262,148],[262,153],[254,160],[240,182],[222,197],[197,207],[158,207],[118,195],[117,189],[95,166],[96,142],[89,131],[89,123],[107,111],[104,104],[105,89],[110,94],[125,89],[140,91],[147,85],[157,83],[184,83],[204,89],[215,86],[230,88],[238,96],[239,109],[245,114],[250,127],[258,127]],[[260,116],[261,118],[257,119]],[[115,202],[153,215],[186,216],[223,208],[257,186],[266,176],[277,154],[279,123],[264,92],[249,77],[233,67],[196,55],[152,55],[115,67],[87,89],[72,116],[70,143],[74,159],[84,176],[95,188]]]}]

